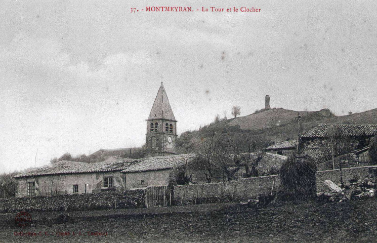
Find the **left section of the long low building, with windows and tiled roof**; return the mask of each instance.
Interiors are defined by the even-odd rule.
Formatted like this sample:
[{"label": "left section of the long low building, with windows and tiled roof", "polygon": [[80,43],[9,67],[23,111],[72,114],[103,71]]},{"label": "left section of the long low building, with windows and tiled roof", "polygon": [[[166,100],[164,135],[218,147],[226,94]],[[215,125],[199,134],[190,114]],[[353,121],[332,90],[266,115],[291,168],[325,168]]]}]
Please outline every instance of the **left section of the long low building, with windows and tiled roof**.
[{"label": "left section of the long low building, with windows and tiled roof", "polygon": [[122,170],[137,159],[111,157],[99,163],[59,161],[16,175],[17,197],[91,193],[125,188]]}]

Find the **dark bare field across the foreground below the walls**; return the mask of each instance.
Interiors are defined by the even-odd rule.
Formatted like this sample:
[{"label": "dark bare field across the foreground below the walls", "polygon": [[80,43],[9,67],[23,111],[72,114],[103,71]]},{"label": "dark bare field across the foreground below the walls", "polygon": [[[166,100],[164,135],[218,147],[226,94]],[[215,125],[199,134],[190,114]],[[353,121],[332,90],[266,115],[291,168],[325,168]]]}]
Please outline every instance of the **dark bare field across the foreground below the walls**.
[{"label": "dark bare field across the foreground below the walls", "polygon": [[[259,210],[228,204],[71,212],[68,222],[52,225],[42,219],[56,217],[56,212],[32,215],[33,225],[25,229],[14,226],[14,215],[0,215],[0,241],[374,242],[377,237],[375,198],[341,204],[288,203]],[[20,231],[36,235],[14,235]]]}]

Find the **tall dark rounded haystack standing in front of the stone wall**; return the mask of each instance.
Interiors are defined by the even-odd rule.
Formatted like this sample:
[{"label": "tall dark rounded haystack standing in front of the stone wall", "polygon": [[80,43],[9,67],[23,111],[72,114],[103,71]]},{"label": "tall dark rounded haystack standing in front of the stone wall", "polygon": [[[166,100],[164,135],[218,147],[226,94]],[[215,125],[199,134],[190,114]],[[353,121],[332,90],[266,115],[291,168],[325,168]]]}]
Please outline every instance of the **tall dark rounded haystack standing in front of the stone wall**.
[{"label": "tall dark rounded haystack standing in front of the stone wall", "polygon": [[277,200],[301,200],[316,197],[315,160],[309,155],[292,154],[280,168]]}]

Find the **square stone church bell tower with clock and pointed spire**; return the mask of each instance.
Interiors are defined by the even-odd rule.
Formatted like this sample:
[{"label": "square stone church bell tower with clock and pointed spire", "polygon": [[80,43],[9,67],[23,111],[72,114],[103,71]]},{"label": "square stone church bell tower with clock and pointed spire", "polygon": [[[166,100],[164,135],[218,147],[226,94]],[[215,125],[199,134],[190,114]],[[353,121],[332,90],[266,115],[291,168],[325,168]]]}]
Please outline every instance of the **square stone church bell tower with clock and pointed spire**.
[{"label": "square stone church bell tower with clock and pointed spire", "polygon": [[161,82],[156,99],[147,119],[147,156],[176,154],[177,120],[174,117],[165,88]]}]

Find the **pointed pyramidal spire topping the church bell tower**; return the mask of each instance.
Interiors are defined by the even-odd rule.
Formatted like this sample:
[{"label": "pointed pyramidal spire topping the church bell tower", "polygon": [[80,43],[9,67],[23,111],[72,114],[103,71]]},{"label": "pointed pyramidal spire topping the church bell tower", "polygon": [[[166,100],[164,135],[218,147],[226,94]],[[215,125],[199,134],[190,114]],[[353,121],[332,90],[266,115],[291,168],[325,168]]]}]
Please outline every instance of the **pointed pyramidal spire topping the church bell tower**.
[{"label": "pointed pyramidal spire topping the church bell tower", "polygon": [[148,120],[152,119],[176,120],[162,82],[148,117]]}]

